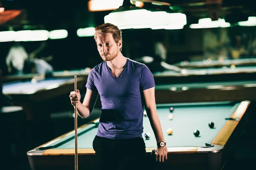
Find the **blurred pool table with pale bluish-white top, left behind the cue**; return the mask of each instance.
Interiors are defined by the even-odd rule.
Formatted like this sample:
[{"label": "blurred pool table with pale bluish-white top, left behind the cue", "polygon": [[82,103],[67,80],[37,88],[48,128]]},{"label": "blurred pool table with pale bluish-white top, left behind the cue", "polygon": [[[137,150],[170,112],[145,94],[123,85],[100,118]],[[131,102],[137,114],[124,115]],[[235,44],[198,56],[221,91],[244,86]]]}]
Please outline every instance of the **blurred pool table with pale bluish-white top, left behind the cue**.
[{"label": "blurred pool table with pale bluish-white top, left behind the cue", "polygon": [[[83,88],[85,82],[83,77],[77,78],[77,88]],[[68,96],[73,90],[74,78],[71,77],[3,83],[3,94],[10,96],[14,105],[23,107],[28,120],[43,120],[49,118],[51,111],[65,108],[66,105],[61,102],[66,98],[66,101],[70,102]],[[58,103],[62,107],[56,107]]]}]

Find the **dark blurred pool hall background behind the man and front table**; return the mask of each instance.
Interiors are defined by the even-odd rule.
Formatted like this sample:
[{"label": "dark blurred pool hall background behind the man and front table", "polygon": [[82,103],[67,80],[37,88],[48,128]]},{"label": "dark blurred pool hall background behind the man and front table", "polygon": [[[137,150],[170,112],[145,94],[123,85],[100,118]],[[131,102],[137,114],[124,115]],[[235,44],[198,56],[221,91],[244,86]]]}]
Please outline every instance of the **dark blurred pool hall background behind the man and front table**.
[{"label": "dark blurred pool hall background behind the man and front table", "polygon": [[[79,78],[83,99],[88,73],[102,62],[94,28],[105,21],[122,30],[122,54],[154,74],[157,104],[250,100],[249,120],[255,119],[252,0],[129,2],[151,11],[150,17],[140,15],[149,25],[136,25],[142,18],[131,13],[122,15],[125,24],[118,15],[111,16],[123,0],[0,0],[0,120],[6,132],[0,140],[8,146],[8,155],[20,162],[9,168],[29,170],[26,151],[73,130],[73,76]],[[162,96],[166,87],[168,94]],[[78,118],[79,125],[99,117],[99,99],[94,112]],[[25,136],[16,139],[16,133]],[[250,121],[248,133],[255,133]],[[24,144],[19,146],[17,140]]]}]

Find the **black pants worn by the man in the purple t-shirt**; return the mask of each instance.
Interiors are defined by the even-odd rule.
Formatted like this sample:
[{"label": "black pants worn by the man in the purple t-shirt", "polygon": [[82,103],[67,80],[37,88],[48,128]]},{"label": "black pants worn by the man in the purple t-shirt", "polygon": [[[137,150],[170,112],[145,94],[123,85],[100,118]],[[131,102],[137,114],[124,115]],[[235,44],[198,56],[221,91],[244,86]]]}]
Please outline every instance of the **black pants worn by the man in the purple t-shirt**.
[{"label": "black pants worn by the man in the purple t-shirt", "polygon": [[140,137],[108,139],[95,136],[93,149],[98,170],[142,170],[150,167],[146,160],[145,142]]}]

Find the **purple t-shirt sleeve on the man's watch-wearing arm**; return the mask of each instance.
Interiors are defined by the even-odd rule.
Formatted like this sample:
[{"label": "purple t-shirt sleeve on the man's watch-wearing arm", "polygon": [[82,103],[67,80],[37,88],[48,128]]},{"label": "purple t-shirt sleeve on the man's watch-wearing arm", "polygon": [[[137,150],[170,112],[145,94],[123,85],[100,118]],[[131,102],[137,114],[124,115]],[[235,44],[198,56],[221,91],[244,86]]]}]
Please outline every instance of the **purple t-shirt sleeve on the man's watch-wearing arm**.
[{"label": "purple t-shirt sleeve on the man's watch-wearing arm", "polygon": [[154,77],[146,65],[140,70],[140,88],[144,91],[155,86]]}]

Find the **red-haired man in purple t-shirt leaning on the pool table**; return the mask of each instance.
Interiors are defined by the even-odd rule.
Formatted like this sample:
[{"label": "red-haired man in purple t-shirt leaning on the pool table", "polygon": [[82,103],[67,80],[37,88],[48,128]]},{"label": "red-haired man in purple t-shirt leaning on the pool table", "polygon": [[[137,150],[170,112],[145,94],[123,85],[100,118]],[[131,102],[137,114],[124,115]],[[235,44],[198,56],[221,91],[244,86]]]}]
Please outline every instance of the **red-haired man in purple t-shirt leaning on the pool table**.
[{"label": "red-haired man in purple t-shirt leaning on the pool table", "polygon": [[145,165],[141,161],[145,156],[144,106],[158,143],[152,153],[156,161],[163,162],[167,159],[167,147],[157,115],[152,73],[144,64],[122,55],[122,32],[113,24],[96,27],[94,39],[103,62],[90,71],[83,103],[79,90],[70,92],[70,100],[73,105],[77,103],[78,114],[87,117],[100,95],[102,113],[93,140],[96,164],[101,170],[134,170],[139,168],[135,161]]}]

